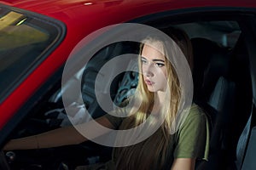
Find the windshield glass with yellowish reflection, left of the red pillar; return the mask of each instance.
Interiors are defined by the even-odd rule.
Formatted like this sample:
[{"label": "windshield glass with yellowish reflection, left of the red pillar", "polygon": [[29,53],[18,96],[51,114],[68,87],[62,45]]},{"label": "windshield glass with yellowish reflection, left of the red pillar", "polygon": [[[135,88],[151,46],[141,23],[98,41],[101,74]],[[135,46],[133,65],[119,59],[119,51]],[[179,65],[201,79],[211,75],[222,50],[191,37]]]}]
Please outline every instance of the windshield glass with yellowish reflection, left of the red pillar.
[{"label": "windshield glass with yellowish reflection, left of the red pillar", "polygon": [[49,22],[0,7],[1,99],[32,71],[58,35]]}]

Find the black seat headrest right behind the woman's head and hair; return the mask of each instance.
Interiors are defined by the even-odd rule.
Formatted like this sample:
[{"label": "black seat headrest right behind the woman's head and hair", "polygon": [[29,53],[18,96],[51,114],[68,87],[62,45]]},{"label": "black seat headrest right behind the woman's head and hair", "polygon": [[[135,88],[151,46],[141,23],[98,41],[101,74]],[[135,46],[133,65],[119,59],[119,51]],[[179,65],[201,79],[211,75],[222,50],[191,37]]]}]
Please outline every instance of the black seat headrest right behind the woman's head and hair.
[{"label": "black seat headrest right behind the woman's head and hair", "polygon": [[194,53],[194,96],[199,100],[209,99],[218,78],[228,75],[228,50],[206,38],[192,38],[191,42]]}]

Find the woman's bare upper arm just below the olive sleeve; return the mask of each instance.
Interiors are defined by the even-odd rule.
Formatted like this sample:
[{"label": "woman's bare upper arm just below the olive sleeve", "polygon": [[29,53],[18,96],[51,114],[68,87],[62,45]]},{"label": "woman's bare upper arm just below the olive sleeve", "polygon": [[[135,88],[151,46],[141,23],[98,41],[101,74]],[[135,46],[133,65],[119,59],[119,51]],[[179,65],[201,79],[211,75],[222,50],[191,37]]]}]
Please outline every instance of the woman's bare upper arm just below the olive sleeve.
[{"label": "woman's bare upper arm just below the olive sleeve", "polygon": [[195,170],[195,159],[177,158],[173,161],[171,170]]}]

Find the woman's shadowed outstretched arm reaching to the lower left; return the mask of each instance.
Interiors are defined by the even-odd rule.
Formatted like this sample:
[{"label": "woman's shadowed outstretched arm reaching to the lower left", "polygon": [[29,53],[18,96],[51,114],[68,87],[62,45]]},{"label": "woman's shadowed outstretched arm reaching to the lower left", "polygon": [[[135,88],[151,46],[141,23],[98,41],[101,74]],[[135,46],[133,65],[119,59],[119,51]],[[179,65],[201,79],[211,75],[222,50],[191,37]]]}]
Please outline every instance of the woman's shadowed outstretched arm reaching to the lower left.
[{"label": "woman's shadowed outstretched arm reaching to the lower left", "polygon": [[[96,119],[96,122],[100,123],[104,127],[113,128],[113,125],[108,121],[106,116],[101,116]],[[92,129],[92,122],[86,122],[77,125],[79,129]],[[93,132],[94,137],[100,136],[105,132]],[[7,143],[3,150],[28,150],[28,149],[38,149],[38,148],[51,148],[56,146],[63,146],[68,144],[80,144],[87,139],[80,134],[77,129],[73,126],[70,127],[60,127],[49,132],[40,133],[37,135],[21,138],[12,139]]]}]

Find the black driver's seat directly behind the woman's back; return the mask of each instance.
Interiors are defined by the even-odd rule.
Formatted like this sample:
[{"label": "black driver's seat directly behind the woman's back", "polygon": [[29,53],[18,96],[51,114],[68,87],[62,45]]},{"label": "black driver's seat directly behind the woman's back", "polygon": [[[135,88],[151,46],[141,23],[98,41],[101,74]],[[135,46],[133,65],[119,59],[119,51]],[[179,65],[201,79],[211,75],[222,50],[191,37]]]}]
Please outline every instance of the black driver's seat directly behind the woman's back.
[{"label": "black driver's seat directly behind the woman's back", "polygon": [[204,38],[191,40],[194,50],[194,101],[206,111],[211,122],[208,161],[200,161],[196,169],[223,169],[224,128],[229,121],[236,84],[230,81],[230,53],[216,42]]}]

